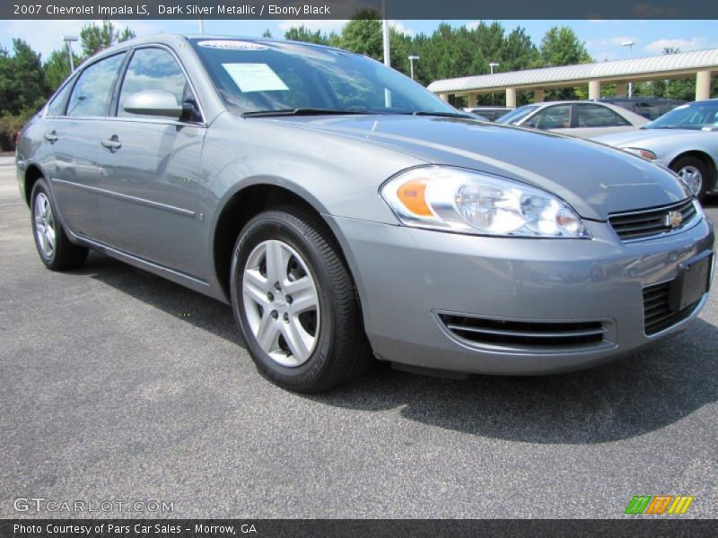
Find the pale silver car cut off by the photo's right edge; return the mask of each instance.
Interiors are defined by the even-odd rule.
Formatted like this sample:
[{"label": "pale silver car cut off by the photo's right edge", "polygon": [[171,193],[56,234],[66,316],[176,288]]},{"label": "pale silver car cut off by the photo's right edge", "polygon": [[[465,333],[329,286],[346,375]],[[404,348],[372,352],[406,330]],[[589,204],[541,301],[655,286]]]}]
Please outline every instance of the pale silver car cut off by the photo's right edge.
[{"label": "pale silver car cut off by the photo's right edge", "polygon": [[698,199],[718,191],[718,99],[688,103],[633,133],[594,140],[673,170]]}]

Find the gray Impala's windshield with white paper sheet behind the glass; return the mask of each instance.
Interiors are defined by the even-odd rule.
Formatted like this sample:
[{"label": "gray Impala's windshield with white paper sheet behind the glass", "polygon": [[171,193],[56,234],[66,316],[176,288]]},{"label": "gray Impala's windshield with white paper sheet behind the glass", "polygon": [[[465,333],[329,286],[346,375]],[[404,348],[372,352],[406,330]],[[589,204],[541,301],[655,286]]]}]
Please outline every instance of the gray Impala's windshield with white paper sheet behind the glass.
[{"label": "gray Impala's windshield with white paper sheet behind the glass", "polygon": [[403,74],[365,56],[293,42],[190,39],[227,108],[296,113],[465,117]]}]

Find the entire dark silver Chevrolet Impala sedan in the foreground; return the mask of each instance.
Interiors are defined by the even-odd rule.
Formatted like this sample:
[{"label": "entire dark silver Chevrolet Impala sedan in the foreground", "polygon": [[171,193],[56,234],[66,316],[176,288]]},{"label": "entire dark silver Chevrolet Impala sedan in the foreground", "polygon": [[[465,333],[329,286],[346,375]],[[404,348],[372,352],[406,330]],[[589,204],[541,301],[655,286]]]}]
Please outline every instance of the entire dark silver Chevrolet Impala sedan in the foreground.
[{"label": "entire dark silver Chevrolet Impala sedan in the foreground", "polygon": [[109,48],[23,128],[17,169],[48,268],[95,248],[230,303],[298,391],[372,356],[584,368],[678,334],[713,275],[713,224],[669,170],[473,120],[335,48]]}]

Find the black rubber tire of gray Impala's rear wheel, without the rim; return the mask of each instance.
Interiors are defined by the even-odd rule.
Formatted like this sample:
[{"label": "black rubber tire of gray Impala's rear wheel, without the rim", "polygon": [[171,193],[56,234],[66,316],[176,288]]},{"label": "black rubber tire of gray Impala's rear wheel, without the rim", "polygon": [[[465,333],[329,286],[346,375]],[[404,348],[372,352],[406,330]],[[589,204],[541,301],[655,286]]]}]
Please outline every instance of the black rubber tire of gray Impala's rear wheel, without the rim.
[{"label": "black rubber tire of gray Impala's rear wheel, without the rim", "polygon": [[[48,218],[38,215],[38,198],[40,201],[47,202]],[[83,265],[87,258],[87,248],[78,247],[70,242],[67,238],[62,223],[57,218],[57,206],[49,193],[48,183],[45,178],[39,178],[32,187],[30,197],[31,221],[32,221],[32,237],[35,239],[35,247],[38,249],[39,258],[48,269],[53,271],[66,271],[68,269],[76,269]],[[39,218],[38,218],[39,217]],[[40,239],[38,227],[44,226],[43,222],[50,222],[55,232],[54,246],[51,251],[43,247]]]}]

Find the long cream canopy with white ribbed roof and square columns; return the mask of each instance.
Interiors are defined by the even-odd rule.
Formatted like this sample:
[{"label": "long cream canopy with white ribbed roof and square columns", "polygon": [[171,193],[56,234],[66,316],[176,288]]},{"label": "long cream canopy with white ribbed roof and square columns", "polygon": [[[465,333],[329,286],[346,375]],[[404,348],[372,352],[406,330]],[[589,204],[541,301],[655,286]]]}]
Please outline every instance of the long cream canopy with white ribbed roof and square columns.
[{"label": "long cream canopy with white ribbed roof and square columns", "polygon": [[695,76],[696,100],[705,100],[711,98],[713,74],[718,74],[718,48],[594,64],[478,74],[435,81],[429,84],[428,89],[445,101],[450,95],[467,97],[469,107],[476,106],[477,97],[481,94],[505,91],[506,106],[515,107],[517,91],[533,91],[534,102],[541,102],[547,89],[588,85],[589,99],[598,99],[602,84],[616,84],[616,95],[627,95],[630,82]]}]

